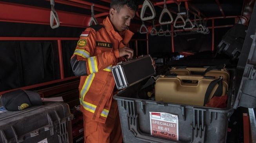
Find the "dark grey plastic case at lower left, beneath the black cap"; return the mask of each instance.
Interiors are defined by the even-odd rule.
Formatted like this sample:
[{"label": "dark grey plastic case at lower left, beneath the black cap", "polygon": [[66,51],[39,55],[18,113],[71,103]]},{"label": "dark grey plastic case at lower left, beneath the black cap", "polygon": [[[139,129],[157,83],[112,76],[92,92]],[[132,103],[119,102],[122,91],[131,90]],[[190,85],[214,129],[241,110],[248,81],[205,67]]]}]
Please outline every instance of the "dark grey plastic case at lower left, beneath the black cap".
[{"label": "dark grey plastic case at lower left, beneath the black cap", "polygon": [[0,143],[72,143],[72,117],[62,102],[0,113]]}]

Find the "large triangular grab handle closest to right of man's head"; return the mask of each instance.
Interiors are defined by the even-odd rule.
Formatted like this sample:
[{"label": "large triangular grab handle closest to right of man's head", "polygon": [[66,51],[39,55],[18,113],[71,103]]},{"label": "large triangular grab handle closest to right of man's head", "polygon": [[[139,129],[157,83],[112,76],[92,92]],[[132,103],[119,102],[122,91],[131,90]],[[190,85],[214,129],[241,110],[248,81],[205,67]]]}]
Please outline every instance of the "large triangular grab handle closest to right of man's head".
[{"label": "large triangular grab handle closest to right of man's head", "polygon": [[[150,8],[152,16],[144,17],[147,7]],[[145,0],[142,5],[142,11],[140,12],[140,19],[142,19],[143,21],[152,20],[155,18],[155,16],[156,16],[156,11],[154,9],[154,5],[149,0]]]}]

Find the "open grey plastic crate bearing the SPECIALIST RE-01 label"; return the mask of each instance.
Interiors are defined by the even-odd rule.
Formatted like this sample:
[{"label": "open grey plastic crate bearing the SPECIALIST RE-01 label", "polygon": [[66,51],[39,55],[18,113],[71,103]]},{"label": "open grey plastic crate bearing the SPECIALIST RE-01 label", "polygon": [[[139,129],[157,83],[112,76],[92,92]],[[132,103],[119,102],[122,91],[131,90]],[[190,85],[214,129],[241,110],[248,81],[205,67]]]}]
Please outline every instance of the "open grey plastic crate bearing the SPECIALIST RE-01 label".
[{"label": "open grey plastic crate bearing the SPECIALIST RE-01 label", "polygon": [[[235,70],[231,73],[233,78]],[[228,119],[234,105],[234,92],[231,91],[235,87],[235,78],[229,86],[228,106],[225,109],[137,99],[139,87],[137,84],[114,95],[118,101],[125,143],[225,143]],[[178,115],[179,141],[151,136],[150,111]]]}]

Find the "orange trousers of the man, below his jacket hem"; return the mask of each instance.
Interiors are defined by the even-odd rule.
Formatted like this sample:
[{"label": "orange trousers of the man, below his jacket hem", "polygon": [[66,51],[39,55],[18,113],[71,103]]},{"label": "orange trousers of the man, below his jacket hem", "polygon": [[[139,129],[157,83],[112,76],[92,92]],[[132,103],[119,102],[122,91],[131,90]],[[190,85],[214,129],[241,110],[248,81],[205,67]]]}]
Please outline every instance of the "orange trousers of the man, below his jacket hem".
[{"label": "orange trousers of the man, below his jacket hem", "polygon": [[116,100],[112,101],[106,123],[95,122],[84,115],[86,143],[122,143],[122,131]]}]

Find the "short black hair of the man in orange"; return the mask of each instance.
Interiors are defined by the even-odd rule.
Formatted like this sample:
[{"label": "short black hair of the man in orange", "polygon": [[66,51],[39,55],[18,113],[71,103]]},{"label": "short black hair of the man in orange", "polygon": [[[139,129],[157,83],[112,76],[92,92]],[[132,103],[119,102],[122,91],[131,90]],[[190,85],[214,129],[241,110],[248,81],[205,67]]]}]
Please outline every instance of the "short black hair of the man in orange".
[{"label": "short black hair of the man in orange", "polygon": [[123,5],[127,5],[133,11],[138,10],[138,0],[111,0],[110,8],[119,12]]}]

